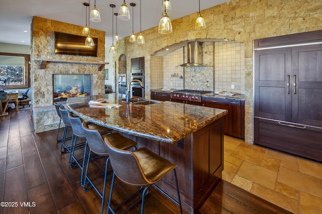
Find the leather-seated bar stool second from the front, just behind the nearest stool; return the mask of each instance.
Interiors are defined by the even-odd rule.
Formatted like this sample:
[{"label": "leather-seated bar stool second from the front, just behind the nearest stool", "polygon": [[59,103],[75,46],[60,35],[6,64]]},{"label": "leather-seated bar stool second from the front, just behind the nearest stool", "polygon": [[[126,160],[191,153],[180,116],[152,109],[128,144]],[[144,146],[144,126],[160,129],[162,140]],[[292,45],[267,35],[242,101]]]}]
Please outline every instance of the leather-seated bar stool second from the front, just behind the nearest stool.
[{"label": "leather-seated bar stool second from the front, just behind the nearest stool", "polygon": [[[100,195],[100,197],[102,198],[101,213],[103,213],[105,186],[106,186],[106,179],[107,179],[107,173],[108,173],[107,166],[108,166],[108,162],[109,162],[109,153],[108,153],[107,148],[105,146],[103,136],[100,134],[100,132],[98,130],[89,129],[88,125],[85,122],[83,122],[82,126],[84,129],[84,133],[86,136],[88,146],[90,148],[90,152],[89,152],[88,156],[89,157],[91,156],[91,152],[94,152],[95,154],[100,155],[100,156],[107,156],[106,163],[105,163],[104,180],[103,180],[104,184],[103,184],[103,192],[102,193],[96,187],[96,185],[99,182],[101,182],[102,180],[94,183],[94,179],[96,179],[97,177],[92,178],[92,179],[90,179],[88,177],[90,158],[88,158],[88,160],[87,160],[87,167],[86,167],[85,178],[84,178],[84,190],[85,191],[87,190],[85,188],[85,184],[88,180],[88,182],[92,185],[91,187],[93,187],[97,191],[97,193]],[[132,147],[136,148],[136,145],[137,145],[137,143],[135,141],[125,138],[122,135],[120,135],[119,133],[112,133],[112,134],[106,135],[105,138],[109,139],[109,141],[111,142],[111,144],[113,144],[113,146],[115,146],[116,148],[123,149],[123,150],[127,150]]]}]

